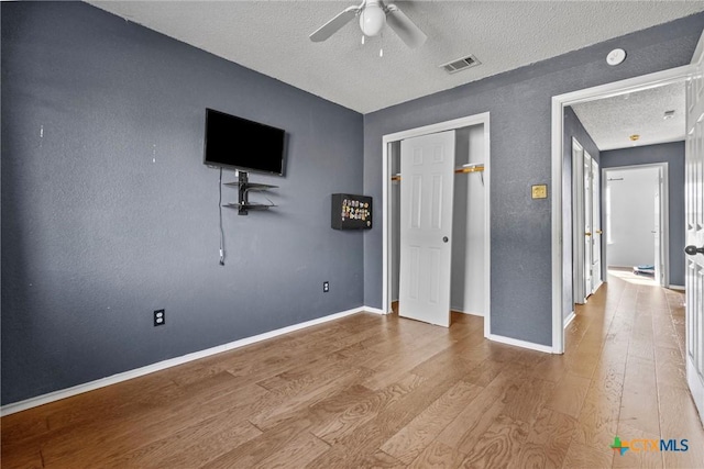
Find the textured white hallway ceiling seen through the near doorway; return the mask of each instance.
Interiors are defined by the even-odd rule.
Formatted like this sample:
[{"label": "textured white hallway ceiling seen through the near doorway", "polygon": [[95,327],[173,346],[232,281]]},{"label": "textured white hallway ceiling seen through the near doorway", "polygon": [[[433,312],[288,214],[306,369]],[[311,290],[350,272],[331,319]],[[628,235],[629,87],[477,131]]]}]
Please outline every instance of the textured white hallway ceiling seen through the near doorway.
[{"label": "textured white hallway ceiling seen through the near doorway", "polygon": [[[684,82],[572,107],[598,149],[627,148],[684,139]],[[672,119],[663,119],[674,111]],[[631,142],[630,135],[640,135]]]}]

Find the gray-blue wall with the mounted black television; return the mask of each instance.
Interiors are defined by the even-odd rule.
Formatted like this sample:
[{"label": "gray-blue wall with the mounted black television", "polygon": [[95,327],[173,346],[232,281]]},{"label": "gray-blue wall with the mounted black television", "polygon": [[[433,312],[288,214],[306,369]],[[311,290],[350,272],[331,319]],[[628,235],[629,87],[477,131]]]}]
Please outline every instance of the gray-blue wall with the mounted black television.
[{"label": "gray-blue wall with the mounted black television", "polygon": [[[3,404],[363,304],[362,233],[330,228],[361,114],[85,3],[0,8]],[[289,137],[251,175],[278,206],[224,209],[224,267],[207,107]]]}]

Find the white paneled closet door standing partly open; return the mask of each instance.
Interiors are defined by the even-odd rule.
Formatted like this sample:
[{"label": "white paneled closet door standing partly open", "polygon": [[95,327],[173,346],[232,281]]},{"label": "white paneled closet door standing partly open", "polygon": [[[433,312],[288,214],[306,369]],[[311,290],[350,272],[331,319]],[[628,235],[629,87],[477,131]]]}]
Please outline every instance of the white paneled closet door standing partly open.
[{"label": "white paneled closet door standing partly open", "polygon": [[450,325],[454,131],[400,144],[400,316]]}]

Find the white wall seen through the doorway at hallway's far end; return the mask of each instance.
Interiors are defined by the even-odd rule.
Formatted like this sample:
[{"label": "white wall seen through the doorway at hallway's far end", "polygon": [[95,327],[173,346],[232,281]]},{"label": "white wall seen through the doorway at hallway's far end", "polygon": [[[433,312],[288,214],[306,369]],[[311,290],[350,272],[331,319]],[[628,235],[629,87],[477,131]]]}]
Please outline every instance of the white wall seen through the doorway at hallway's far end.
[{"label": "white wall seen through the doorway at hallway's far end", "polygon": [[654,230],[658,175],[658,168],[606,171],[604,217],[608,266],[654,263],[656,235],[651,232]]}]

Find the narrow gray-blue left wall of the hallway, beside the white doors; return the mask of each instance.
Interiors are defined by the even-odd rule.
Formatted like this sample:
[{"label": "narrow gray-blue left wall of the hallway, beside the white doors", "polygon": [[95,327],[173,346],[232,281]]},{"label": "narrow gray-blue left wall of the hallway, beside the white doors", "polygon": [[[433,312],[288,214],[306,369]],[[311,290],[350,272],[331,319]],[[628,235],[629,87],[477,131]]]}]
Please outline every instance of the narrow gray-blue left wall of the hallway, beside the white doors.
[{"label": "narrow gray-blue left wall of the hallway, beside the white doors", "polygon": [[[586,132],[582,121],[576,116],[571,107],[564,109],[562,135],[562,186],[564,188],[564,197],[562,198],[562,236],[565,241],[562,244],[562,317],[566,319],[574,311],[574,289],[573,289],[573,270],[574,263],[572,259],[572,137],[582,145],[582,147],[596,161],[600,161],[600,150],[592,136]],[[602,278],[606,278],[602,276]]]}]

